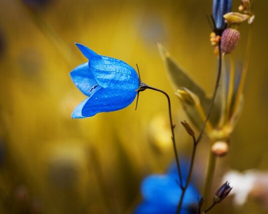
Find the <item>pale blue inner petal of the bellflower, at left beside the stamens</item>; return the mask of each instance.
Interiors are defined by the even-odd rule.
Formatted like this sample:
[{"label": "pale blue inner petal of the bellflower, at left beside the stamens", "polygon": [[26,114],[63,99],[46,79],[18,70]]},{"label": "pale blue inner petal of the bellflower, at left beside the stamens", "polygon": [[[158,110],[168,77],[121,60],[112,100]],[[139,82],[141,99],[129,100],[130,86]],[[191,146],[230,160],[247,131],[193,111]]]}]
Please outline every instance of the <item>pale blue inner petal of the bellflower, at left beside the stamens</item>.
[{"label": "pale blue inner petal of the bellflower, at left beside the stamens", "polygon": [[74,84],[86,96],[91,96],[101,87],[97,84],[92,72],[88,67],[88,63],[77,66],[71,73]]}]

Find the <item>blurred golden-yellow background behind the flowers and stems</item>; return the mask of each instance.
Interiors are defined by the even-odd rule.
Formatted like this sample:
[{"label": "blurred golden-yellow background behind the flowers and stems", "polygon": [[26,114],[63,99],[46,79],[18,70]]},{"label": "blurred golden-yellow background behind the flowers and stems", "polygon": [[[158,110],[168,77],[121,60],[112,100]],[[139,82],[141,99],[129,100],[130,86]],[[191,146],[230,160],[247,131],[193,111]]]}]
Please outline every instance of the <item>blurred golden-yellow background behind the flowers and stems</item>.
[{"label": "blurred golden-yellow background behind the flowers and stems", "polygon": [[[233,2],[235,11],[239,4]],[[268,172],[267,7],[267,1],[254,1],[244,109],[229,154],[217,162],[215,186],[229,169]],[[156,42],[211,94],[217,65],[206,19],[211,8],[212,1],[195,0],[0,0],[0,213],[132,213],[142,199],[142,179],[164,173],[173,160],[166,99],[146,91],[137,111],[132,103],[71,119],[84,96],[69,72],[87,61],[74,42],[132,67],[137,62],[144,82],[170,94],[179,124],[187,117]],[[247,30],[240,27],[238,62]],[[191,138],[180,125],[175,130],[187,158]],[[193,177],[199,189],[208,148],[204,138]],[[267,213],[265,203],[252,196],[238,207],[230,196],[211,212]]]}]

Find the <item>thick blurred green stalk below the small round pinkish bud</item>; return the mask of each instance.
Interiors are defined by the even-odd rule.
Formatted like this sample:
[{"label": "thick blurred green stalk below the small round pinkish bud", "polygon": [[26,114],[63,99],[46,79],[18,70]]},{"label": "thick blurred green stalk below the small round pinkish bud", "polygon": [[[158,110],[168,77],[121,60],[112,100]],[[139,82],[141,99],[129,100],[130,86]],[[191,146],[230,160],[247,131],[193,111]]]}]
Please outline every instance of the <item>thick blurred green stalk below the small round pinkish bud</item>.
[{"label": "thick blurred green stalk below the small round pinkish bud", "polygon": [[212,186],[212,181],[213,181],[215,167],[216,167],[216,160],[217,160],[216,155],[212,151],[210,151],[206,179],[203,185],[204,186],[203,197],[205,199],[203,207],[206,207],[209,202],[208,196],[209,196],[211,186]]}]

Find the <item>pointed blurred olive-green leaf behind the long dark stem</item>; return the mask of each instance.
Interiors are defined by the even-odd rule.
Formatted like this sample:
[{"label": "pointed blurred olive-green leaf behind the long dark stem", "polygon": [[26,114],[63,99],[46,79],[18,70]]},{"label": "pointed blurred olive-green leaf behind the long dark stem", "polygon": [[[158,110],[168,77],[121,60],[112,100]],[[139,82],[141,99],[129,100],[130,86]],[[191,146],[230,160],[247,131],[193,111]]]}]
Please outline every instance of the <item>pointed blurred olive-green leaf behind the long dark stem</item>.
[{"label": "pointed blurred olive-green leaf behind the long dark stem", "polygon": [[[168,51],[164,48],[164,46],[160,43],[157,44],[158,49],[161,55],[161,58],[164,62],[165,68],[167,70],[168,76],[172,85],[174,86],[175,90],[180,89],[181,87],[188,88],[194,94],[196,94],[199,99],[201,106],[203,107],[205,113],[208,112],[210,106],[210,98],[206,95],[204,89],[200,87],[182,68],[181,66],[171,57]],[[200,128],[202,126],[202,120],[197,119],[197,112],[194,111],[192,107],[187,107],[184,105],[184,109],[192,120],[192,123],[197,127]],[[210,122],[213,126],[218,124],[220,117],[220,106],[214,104]],[[200,124],[201,123],[201,124]]]}]

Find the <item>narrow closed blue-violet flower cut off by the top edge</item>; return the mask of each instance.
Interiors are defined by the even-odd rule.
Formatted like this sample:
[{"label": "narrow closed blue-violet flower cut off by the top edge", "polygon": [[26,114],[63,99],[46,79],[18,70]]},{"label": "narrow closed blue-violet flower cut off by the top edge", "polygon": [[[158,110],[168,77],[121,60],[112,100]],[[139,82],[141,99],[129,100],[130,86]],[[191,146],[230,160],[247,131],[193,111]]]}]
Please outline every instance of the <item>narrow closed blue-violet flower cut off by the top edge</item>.
[{"label": "narrow closed blue-violet flower cut off by the top edge", "polygon": [[213,0],[212,16],[217,30],[225,29],[223,15],[229,13],[232,7],[232,0]]}]

